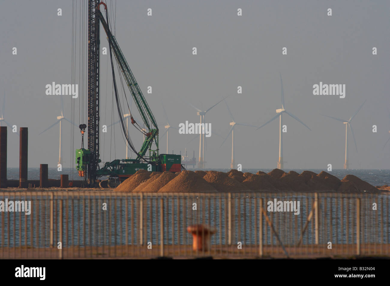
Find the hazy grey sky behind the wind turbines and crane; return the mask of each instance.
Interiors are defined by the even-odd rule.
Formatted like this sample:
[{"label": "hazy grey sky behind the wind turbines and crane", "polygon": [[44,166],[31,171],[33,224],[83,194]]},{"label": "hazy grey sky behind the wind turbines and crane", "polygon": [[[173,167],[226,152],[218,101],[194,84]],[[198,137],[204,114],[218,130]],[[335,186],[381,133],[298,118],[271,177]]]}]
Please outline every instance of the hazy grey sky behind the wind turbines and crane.
[{"label": "hazy grey sky behind the wind turbines and crane", "polygon": [[[227,95],[236,122],[264,124],[281,108],[280,72],[286,110],[312,130],[283,116],[287,125],[283,137],[285,168],[325,169],[329,163],[342,168],[345,125],[320,114],[349,119],[366,99],[351,124],[358,153],[349,132],[350,168],[390,168],[390,143],[382,150],[390,130],[389,1],[118,0],[107,2],[110,14],[115,13],[111,2],[114,9],[116,3],[117,41],[161,134],[166,125],[161,100],[171,126],[199,122],[195,109],[187,103],[207,109]],[[79,29],[80,1],[74,5],[78,7]],[[85,66],[87,59],[80,63],[78,31],[74,43],[76,81],[71,81],[72,1],[2,0],[1,7],[0,84],[6,95],[5,120],[17,125],[18,132],[20,127],[28,127],[29,167],[39,167],[40,163],[57,167],[59,125],[38,135],[60,115],[60,96],[46,95],[46,84],[79,84],[79,98],[62,96],[64,115],[73,117],[73,102],[72,120],[76,125],[87,123],[79,120],[79,106],[86,94],[78,67]],[[57,16],[58,8],[62,16]],[[148,8],[152,16],[147,16]],[[237,15],[238,8],[242,16]],[[332,8],[332,16],[327,16],[328,8]],[[87,11],[83,14],[86,19]],[[113,24],[113,16],[111,21]],[[82,37],[85,43],[85,33]],[[13,47],[17,48],[16,55],[12,54]],[[103,28],[102,47],[108,47]],[[197,47],[197,55],[192,54],[193,47]],[[287,47],[287,55],[282,55],[283,47]],[[373,47],[378,49],[377,55],[372,54]],[[86,48],[84,45],[83,53]],[[116,106],[112,107],[108,60],[108,55],[101,54],[101,126],[113,122],[112,114],[114,121],[118,120]],[[313,95],[313,85],[319,82],[345,84],[346,97]],[[152,86],[152,94],[147,93],[147,86]],[[242,94],[237,93],[238,86],[242,86]],[[127,95],[129,98],[129,91]],[[2,92],[0,99],[2,102]],[[84,109],[85,117],[85,105]],[[136,109],[133,113],[140,118]],[[229,132],[229,122],[223,102],[206,114],[211,130],[223,137]],[[372,132],[372,125],[378,126],[377,133]],[[276,168],[278,128],[278,119],[257,131],[236,126],[236,164],[243,168]],[[114,131],[115,136],[111,135]],[[70,167],[71,152],[81,147],[80,130],[74,129],[73,148],[71,125],[66,121],[62,134],[64,167]],[[140,149],[142,134],[132,128],[130,135]],[[170,153],[172,149],[176,154],[184,153],[187,147],[190,156],[195,150],[198,157],[199,139],[188,144],[193,136],[172,130]],[[207,168],[229,168],[231,136],[220,147],[222,142],[223,138],[216,135],[207,138]],[[102,160],[113,160],[115,155],[125,157],[119,125],[103,133],[101,143]],[[165,153],[165,137],[160,139],[160,148]],[[19,164],[19,137],[10,128],[7,164]]]}]

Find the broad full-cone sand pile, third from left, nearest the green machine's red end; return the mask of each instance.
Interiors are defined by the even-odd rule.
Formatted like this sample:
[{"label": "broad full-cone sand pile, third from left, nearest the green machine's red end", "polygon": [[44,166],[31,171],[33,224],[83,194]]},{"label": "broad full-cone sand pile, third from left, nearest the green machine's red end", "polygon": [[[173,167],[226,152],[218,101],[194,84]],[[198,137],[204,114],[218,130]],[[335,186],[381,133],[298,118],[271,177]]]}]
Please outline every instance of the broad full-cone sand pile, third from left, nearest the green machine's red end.
[{"label": "broad full-cone sand pile, third from left, nearest the green machine's red end", "polygon": [[182,171],[158,190],[159,193],[216,193],[217,190],[193,171]]}]

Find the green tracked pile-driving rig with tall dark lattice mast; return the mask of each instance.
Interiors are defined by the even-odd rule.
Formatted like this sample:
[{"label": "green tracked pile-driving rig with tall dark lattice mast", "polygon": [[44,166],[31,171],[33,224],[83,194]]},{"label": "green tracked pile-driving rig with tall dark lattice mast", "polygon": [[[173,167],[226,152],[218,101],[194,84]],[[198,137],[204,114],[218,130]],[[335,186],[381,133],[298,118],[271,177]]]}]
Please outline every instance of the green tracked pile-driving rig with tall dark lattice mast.
[{"label": "green tracked pile-driving rig with tall dark lattice mast", "polygon": [[[100,12],[100,5],[104,6],[106,20],[103,14]],[[119,118],[121,119],[122,130],[124,137],[128,142],[128,146],[135,154],[135,159],[116,159],[111,162],[106,162],[103,167],[99,167],[101,160],[99,159],[99,27],[100,22],[107,34],[107,39],[110,47],[110,60],[113,78],[113,87],[115,91],[115,99],[117,109],[119,112]],[[147,104],[144,95],[133,73],[131,72],[126,59],[123,56],[121,48],[119,47],[117,40],[110,31],[107,12],[107,5],[104,2],[97,0],[88,1],[88,126],[86,124],[80,124],[80,132],[82,134],[82,147],[76,150],[76,168],[80,177],[84,178],[84,181],[89,186],[94,186],[97,179],[102,176],[107,176],[110,180],[112,178],[126,178],[137,172],[137,170],[144,169],[150,172],[158,171],[170,171],[180,172],[184,169],[181,165],[181,156],[175,154],[159,154],[158,148],[158,127],[156,119],[152,114],[149,105]],[[131,123],[137,130],[144,133],[145,140],[142,144],[141,150],[137,152],[131,138],[129,137],[128,128],[124,119],[122,118],[122,107],[118,97],[118,90],[115,81],[114,65],[112,54],[115,56],[117,65],[119,66],[123,78],[130,90],[131,96],[137,106],[138,112],[143,121],[143,126],[133,119],[131,115],[129,105],[128,111],[131,118]],[[125,95],[126,98],[126,95]],[[126,98],[126,103],[128,100]],[[88,131],[88,149],[84,149],[84,133],[85,128]],[[146,130],[146,131],[145,131]],[[148,152],[149,151],[149,152]]]}]

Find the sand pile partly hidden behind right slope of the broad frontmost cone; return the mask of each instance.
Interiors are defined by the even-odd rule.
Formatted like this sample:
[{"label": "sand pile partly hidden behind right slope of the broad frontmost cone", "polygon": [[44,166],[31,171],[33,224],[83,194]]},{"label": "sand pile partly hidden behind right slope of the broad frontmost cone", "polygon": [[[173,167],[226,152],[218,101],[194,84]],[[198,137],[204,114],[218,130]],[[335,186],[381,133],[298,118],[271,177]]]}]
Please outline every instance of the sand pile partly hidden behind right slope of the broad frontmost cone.
[{"label": "sand pile partly hidden behind right slope of the broad frontmost cone", "polygon": [[203,179],[209,182],[217,191],[236,192],[247,189],[243,184],[232,179],[224,172],[209,171]]}]

